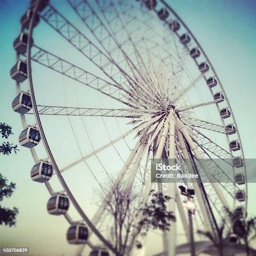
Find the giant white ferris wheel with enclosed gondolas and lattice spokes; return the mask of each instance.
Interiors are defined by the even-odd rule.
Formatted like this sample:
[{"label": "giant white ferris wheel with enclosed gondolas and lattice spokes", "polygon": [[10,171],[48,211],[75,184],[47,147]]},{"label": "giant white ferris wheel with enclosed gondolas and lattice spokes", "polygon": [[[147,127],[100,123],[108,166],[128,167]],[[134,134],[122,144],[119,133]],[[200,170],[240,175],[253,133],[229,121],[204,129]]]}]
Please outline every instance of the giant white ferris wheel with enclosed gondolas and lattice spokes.
[{"label": "giant white ferris wheel with enclosed gondolas and lattice spokes", "polygon": [[[199,229],[216,233],[223,207],[246,217],[246,166],[227,95],[166,1],[32,0],[20,23],[10,72],[17,93],[12,106],[24,129],[19,141],[35,161],[32,180],[50,193],[49,214],[64,215],[68,242],[81,244],[77,255],[85,244],[92,255],[115,252],[104,221],[111,191],[93,212],[79,194],[92,181],[101,188],[113,169],[113,185],[138,187],[143,202],[152,188],[172,197],[169,210],[183,230],[180,241],[179,224],[167,235],[159,232],[159,251],[168,255],[189,241],[180,184],[195,190],[197,241]],[[151,183],[150,161],[161,158],[199,174],[197,182]]]}]

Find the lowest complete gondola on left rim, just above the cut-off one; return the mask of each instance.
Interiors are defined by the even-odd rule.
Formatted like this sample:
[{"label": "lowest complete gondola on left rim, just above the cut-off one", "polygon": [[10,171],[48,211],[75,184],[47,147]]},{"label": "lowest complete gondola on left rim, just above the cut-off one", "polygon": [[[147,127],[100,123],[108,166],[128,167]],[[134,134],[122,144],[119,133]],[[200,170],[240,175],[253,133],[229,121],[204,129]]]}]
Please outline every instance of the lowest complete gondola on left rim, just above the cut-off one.
[{"label": "lowest complete gondola on left rim, just above the cut-off one", "polygon": [[89,235],[89,230],[84,224],[73,224],[67,231],[67,241],[70,244],[86,243]]}]

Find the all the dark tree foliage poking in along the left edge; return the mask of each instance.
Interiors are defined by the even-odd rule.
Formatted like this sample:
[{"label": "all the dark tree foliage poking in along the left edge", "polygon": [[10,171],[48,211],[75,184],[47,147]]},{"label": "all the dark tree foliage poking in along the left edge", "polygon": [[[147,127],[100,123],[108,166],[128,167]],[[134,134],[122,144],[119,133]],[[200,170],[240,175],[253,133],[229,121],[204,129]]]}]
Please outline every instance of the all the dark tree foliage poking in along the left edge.
[{"label": "all the dark tree foliage poking in along the left edge", "polygon": [[[13,134],[11,126],[6,123],[0,123],[0,133],[2,134],[2,138],[6,139]],[[9,155],[12,151],[17,154],[17,145],[13,145],[9,142],[3,142],[2,145],[0,145],[0,153]],[[0,202],[3,201],[4,197],[10,197],[13,194],[15,186],[16,184],[13,182],[8,184],[8,180],[0,174]],[[17,214],[18,208],[13,207],[13,209],[10,209],[0,205],[0,225],[5,224],[10,227],[15,225]]]}]

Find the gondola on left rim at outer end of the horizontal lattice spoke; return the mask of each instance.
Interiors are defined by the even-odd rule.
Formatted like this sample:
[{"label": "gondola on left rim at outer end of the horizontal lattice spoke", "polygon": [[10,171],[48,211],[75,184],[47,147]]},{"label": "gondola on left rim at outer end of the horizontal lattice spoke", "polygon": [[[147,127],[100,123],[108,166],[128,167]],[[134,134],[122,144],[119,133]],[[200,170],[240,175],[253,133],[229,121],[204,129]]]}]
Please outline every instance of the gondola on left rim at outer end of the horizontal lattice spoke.
[{"label": "gondola on left rim at outer end of the horizontal lattice spoke", "polygon": [[30,95],[26,92],[21,92],[14,98],[12,107],[15,112],[26,114],[32,108]]}]

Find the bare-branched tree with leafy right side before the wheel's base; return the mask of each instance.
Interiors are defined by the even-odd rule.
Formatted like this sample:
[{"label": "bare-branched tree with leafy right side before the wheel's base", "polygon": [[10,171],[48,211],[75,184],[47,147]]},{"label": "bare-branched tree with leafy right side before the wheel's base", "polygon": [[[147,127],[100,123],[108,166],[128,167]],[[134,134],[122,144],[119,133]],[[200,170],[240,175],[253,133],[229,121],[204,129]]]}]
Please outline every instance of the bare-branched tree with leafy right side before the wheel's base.
[{"label": "bare-branched tree with leafy right side before the wheel's base", "polygon": [[113,196],[106,201],[105,210],[114,224],[111,233],[116,255],[129,255],[135,243],[140,246],[138,236],[150,229],[169,230],[170,221],[175,221],[173,212],[167,210],[169,196],[152,190],[149,202],[143,203],[140,193],[124,182],[107,186]]}]

